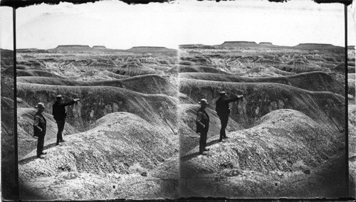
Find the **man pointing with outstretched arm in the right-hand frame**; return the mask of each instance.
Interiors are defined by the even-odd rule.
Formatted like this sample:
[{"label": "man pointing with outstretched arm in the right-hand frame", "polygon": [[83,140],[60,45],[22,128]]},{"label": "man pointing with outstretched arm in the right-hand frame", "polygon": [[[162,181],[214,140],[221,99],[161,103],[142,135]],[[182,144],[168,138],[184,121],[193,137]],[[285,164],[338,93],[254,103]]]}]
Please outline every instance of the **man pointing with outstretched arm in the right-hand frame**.
[{"label": "man pointing with outstretched arm in the right-hand frame", "polygon": [[229,98],[226,96],[225,91],[220,92],[220,97],[218,100],[216,100],[216,108],[215,108],[216,113],[219,116],[221,122],[219,142],[222,142],[223,139],[229,138],[226,137],[226,132],[225,132],[225,129],[227,127],[227,122],[229,121],[229,115],[230,115],[229,103],[235,102],[242,97],[244,97],[244,95],[237,95]]}]

